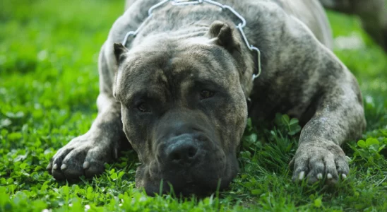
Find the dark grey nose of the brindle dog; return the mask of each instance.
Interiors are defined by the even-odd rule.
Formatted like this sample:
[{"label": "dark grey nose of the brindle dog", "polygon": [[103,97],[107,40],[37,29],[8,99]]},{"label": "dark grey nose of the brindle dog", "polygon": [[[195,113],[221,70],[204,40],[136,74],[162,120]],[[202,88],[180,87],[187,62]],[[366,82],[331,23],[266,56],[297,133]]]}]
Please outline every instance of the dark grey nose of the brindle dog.
[{"label": "dark grey nose of the brindle dog", "polygon": [[198,147],[192,139],[172,143],[167,150],[167,162],[172,165],[191,165],[198,158]]}]

